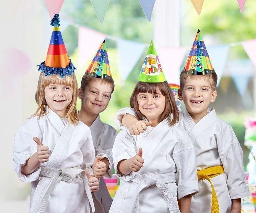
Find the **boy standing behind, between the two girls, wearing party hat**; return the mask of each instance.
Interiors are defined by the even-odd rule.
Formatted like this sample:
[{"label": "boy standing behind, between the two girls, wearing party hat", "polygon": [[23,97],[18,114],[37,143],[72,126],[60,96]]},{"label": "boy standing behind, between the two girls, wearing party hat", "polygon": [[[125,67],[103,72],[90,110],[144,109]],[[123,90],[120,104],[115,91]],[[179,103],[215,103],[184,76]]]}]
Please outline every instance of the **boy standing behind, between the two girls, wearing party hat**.
[{"label": "boy standing behind, between the two girls, wearing party hat", "polygon": [[112,177],[112,147],[117,131],[112,126],[103,123],[99,113],[106,109],[114,86],[104,41],[83,75],[78,92],[78,96],[82,100],[78,118],[90,127],[96,152],[93,169],[95,177],[100,181],[99,191],[93,193],[96,213],[108,212],[112,203],[103,176],[106,174],[107,177]]}]

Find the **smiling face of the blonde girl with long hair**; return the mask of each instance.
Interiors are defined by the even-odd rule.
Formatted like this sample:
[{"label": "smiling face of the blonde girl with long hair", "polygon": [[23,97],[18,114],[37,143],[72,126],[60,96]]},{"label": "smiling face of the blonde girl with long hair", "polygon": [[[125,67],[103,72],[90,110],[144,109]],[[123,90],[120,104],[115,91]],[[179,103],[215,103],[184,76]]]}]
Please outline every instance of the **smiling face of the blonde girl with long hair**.
[{"label": "smiling face of the blonde girl with long hair", "polygon": [[60,117],[65,117],[67,106],[72,101],[73,89],[62,84],[50,84],[44,88],[47,105]]}]

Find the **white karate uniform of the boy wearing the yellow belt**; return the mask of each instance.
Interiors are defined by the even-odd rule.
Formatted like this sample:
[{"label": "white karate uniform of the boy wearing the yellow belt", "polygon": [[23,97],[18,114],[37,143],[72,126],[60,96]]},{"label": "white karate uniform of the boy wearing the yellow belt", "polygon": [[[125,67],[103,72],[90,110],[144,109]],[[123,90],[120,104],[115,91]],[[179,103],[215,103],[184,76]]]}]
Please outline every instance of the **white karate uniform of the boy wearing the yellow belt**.
[{"label": "white karate uniform of the boy wearing the yellow belt", "polygon": [[[122,128],[124,114],[136,116],[133,109],[123,108],[115,118],[118,128]],[[178,126],[188,132],[195,146],[197,170],[223,165],[225,173],[211,178],[219,203],[220,213],[229,212],[231,199],[250,195],[245,184],[243,153],[232,127],[217,118],[214,109],[209,108],[208,114],[195,124],[190,114],[180,111]],[[206,179],[198,181],[199,193],[192,196],[192,213],[210,213],[212,190]]]}]

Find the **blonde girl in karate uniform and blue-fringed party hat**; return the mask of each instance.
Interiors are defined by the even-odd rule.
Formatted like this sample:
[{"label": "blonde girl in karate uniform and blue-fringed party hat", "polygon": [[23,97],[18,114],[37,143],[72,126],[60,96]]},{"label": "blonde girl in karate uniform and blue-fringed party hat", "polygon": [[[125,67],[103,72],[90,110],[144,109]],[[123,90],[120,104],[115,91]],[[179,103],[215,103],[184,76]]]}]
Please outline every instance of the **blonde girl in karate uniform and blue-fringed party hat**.
[{"label": "blonde girl in karate uniform and blue-fringed party hat", "polygon": [[99,181],[84,172],[95,157],[91,132],[77,118],[75,67],[63,44],[58,14],[53,22],[54,45],[50,43],[39,66],[38,109],[16,134],[14,169],[20,180],[31,182],[29,212],[89,212],[90,205],[94,211],[91,191],[98,190]]}]

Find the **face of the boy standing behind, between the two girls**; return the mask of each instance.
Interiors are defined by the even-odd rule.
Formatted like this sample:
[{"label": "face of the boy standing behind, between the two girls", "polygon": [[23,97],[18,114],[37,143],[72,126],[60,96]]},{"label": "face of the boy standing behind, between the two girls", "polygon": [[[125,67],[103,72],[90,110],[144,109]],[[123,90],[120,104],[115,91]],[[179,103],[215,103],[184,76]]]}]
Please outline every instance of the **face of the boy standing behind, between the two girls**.
[{"label": "face of the boy standing behind, between the two girls", "polygon": [[82,108],[92,114],[104,111],[111,97],[111,85],[101,81],[101,79],[91,81],[85,87],[84,92],[79,88],[78,97],[82,100]]}]

